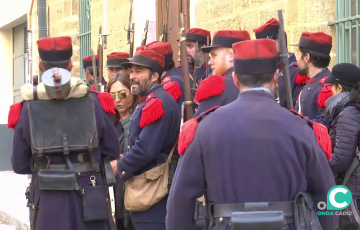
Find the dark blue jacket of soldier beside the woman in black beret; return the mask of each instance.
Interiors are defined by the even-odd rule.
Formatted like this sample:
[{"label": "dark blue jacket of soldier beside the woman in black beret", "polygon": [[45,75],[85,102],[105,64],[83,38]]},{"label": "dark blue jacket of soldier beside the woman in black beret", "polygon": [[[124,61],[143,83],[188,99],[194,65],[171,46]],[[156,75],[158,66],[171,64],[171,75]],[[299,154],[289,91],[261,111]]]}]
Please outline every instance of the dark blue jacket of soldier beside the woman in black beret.
[{"label": "dark blue jacket of soldier beside the woman in black beret", "polygon": [[[324,80],[326,77],[330,76],[331,72],[328,68],[321,70],[313,78],[310,78],[306,85],[304,85],[303,90],[300,92],[300,95],[296,101],[295,110],[301,113],[304,116],[307,116],[311,120],[316,120],[317,117],[323,117],[325,109],[325,101],[323,97],[330,97],[328,93],[327,96],[324,94],[319,96],[320,91],[324,87]],[[319,99],[323,98],[323,103],[320,103]],[[319,106],[319,104],[321,104]]]}]

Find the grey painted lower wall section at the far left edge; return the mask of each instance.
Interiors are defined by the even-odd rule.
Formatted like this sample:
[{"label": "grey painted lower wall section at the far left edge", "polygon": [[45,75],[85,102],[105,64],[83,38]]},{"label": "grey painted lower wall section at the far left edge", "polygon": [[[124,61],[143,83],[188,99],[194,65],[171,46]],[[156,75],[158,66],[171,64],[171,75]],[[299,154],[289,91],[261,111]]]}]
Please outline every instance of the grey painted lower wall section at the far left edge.
[{"label": "grey painted lower wall section at the far left edge", "polygon": [[11,150],[14,131],[6,124],[0,125],[0,171],[12,171]]}]

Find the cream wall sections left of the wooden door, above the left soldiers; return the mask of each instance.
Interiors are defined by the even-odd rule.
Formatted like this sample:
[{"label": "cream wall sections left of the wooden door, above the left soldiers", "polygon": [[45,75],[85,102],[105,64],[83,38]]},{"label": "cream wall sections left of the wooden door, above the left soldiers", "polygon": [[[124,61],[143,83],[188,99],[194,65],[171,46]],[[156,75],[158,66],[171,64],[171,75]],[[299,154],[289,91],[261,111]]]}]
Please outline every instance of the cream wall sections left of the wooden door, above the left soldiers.
[{"label": "cream wall sections left of the wooden door, above the left soldiers", "polygon": [[[33,58],[34,72],[38,73],[38,18],[37,1],[34,1],[32,12],[33,27]],[[80,76],[79,60],[79,0],[47,0],[47,17],[49,17],[48,30],[51,37],[70,36],[73,42],[73,71],[75,77]],[[107,49],[104,50],[104,66],[106,55],[115,52],[129,52],[129,45],[126,44],[126,31],[124,25],[129,21],[130,1],[129,0],[108,0],[107,1],[107,30],[111,33],[108,36]],[[91,0],[91,47],[97,50],[99,26],[103,24],[103,0]],[[104,77],[107,77],[104,71]]]}]

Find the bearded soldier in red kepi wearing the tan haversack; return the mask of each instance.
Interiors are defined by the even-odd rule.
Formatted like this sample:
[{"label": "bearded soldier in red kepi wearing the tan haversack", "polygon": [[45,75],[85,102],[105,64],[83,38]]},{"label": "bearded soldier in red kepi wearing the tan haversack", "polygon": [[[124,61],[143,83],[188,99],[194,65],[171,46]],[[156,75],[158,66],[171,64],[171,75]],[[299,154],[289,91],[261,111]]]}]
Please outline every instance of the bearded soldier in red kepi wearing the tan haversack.
[{"label": "bearded soldier in red kepi wearing the tan haversack", "polygon": [[[122,66],[131,68],[132,94],[144,98],[132,115],[129,151],[120,158],[114,171],[126,182],[165,163],[179,135],[180,110],[160,84],[165,67],[163,55],[153,50],[138,50]],[[166,203],[167,196],[146,211],[130,212],[135,228],[165,230]]]}]

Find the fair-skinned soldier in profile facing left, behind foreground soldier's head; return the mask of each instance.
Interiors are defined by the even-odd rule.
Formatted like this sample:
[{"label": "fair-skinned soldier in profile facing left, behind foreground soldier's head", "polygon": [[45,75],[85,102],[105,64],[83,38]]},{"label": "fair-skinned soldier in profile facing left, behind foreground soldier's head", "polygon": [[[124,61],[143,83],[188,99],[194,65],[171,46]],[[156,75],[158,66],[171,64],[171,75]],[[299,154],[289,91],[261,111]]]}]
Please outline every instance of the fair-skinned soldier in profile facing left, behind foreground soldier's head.
[{"label": "fair-skinned soldier in profile facing left, behind foreground soldier's head", "polygon": [[215,32],[213,44],[203,47],[205,53],[210,53],[209,65],[212,76],[201,81],[196,91],[195,102],[199,103],[195,116],[214,107],[233,102],[239,95],[239,89],[231,77],[234,71],[234,52],[232,45],[250,40],[246,30],[220,30]]}]

